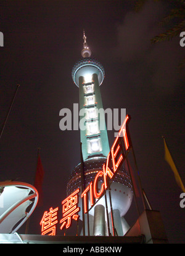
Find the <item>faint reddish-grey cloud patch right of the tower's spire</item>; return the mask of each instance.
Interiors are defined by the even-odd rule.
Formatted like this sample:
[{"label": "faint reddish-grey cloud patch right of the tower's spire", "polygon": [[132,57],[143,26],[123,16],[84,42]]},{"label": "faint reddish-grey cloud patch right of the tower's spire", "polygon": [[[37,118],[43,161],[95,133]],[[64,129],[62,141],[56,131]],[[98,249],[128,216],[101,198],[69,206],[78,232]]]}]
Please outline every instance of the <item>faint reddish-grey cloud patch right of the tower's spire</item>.
[{"label": "faint reddish-grey cloud patch right of the tower's spire", "polygon": [[162,4],[147,3],[139,12],[128,12],[117,27],[117,55],[123,61],[139,60],[150,51],[150,39],[157,33],[157,21],[163,14]]}]

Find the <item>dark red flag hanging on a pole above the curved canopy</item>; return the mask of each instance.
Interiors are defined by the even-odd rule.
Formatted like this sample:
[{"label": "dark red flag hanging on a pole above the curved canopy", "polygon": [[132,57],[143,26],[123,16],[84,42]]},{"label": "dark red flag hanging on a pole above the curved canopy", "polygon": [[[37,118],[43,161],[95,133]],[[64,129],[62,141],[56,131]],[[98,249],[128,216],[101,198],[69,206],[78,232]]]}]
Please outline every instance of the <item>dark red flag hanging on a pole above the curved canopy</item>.
[{"label": "dark red flag hanging on a pole above the curved canopy", "polygon": [[36,167],[35,183],[34,183],[34,186],[39,194],[38,206],[41,205],[43,200],[43,179],[44,179],[43,164],[41,162],[41,157],[38,155],[38,162]]}]

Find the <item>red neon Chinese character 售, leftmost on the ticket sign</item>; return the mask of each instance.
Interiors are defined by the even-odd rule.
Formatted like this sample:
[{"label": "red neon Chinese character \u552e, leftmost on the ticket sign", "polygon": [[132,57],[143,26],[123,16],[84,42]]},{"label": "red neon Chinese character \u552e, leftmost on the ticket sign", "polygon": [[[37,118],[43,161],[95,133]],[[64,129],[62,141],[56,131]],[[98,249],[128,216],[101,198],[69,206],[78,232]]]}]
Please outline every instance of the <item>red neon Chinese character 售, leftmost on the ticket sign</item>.
[{"label": "red neon Chinese character \u552e, leftmost on the ticket sign", "polygon": [[40,225],[42,226],[41,234],[45,235],[47,233],[48,236],[55,236],[55,224],[57,221],[57,211],[59,208],[52,209],[52,207],[49,209],[49,213],[47,211],[44,211],[43,218],[41,219]]}]

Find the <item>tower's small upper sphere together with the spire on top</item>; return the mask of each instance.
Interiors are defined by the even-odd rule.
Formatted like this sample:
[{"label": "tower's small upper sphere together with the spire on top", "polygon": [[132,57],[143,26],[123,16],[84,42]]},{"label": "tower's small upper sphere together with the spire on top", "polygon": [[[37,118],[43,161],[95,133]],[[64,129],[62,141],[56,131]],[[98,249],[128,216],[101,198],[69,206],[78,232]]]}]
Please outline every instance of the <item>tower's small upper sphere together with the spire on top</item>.
[{"label": "tower's small upper sphere together with the spire on top", "polygon": [[[76,86],[79,87],[79,77],[83,76],[84,80],[87,81],[87,78],[92,77],[92,74],[97,74],[99,85],[102,84],[105,77],[104,67],[99,61],[90,58],[91,50],[88,47],[86,42],[86,36],[83,32],[83,50],[81,51],[82,60],[75,63],[72,69],[72,79],[75,82]],[[90,82],[90,81],[89,81]]]}]

